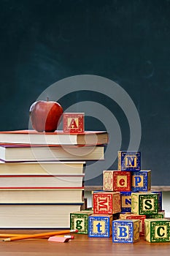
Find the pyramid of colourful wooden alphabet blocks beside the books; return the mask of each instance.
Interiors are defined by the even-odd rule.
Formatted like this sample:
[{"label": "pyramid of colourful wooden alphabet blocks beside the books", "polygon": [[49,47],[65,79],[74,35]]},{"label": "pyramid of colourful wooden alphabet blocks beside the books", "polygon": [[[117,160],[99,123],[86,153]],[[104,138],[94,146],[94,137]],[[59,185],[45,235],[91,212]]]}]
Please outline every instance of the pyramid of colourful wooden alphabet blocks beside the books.
[{"label": "pyramid of colourful wooden alphabet blocks beside the books", "polygon": [[[151,190],[151,170],[141,170],[140,151],[119,151],[117,170],[103,171],[103,190],[93,191],[93,211],[77,225],[90,238],[109,238],[113,243],[134,243],[140,236],[152,242],[170,241],[170,221],[162,209],[162,193]],[[77,215],[77,216],[76,216]]]}]

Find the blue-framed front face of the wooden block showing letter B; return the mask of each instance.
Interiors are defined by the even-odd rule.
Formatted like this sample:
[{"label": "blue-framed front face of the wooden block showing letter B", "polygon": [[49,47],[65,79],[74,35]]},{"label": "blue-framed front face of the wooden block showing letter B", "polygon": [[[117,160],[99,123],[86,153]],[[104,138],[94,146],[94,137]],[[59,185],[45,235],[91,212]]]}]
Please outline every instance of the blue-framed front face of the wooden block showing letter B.
[{"label": "blue-framed front face of the wooden block showing letter B", "polygon": [[134,222],[130,219],[115,220],[112,222],[113,243],[133,243],[135,232]]}]

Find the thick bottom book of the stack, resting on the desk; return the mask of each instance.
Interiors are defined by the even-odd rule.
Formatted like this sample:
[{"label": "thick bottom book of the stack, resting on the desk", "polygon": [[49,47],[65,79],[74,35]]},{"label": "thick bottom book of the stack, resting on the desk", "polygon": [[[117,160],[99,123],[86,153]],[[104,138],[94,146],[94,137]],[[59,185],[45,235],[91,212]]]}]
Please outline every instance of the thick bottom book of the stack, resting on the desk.
[{"label": "thick bottom book of the stack, resting on the desk", "polygon": [[0,228],[69,228],[70,212],[81,203],[0,204]]}]

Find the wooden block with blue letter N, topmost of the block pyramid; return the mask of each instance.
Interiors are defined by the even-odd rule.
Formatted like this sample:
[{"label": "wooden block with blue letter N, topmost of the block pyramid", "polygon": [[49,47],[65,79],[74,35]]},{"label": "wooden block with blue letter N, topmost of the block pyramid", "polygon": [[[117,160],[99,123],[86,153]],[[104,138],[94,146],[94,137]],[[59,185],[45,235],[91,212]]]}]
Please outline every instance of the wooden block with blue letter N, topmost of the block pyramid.
[{"label": "wooden block with blue letter N, topmost of the block pyramid", "polygon": [[118,170],[141,170],[141,152],[118,151]]}]

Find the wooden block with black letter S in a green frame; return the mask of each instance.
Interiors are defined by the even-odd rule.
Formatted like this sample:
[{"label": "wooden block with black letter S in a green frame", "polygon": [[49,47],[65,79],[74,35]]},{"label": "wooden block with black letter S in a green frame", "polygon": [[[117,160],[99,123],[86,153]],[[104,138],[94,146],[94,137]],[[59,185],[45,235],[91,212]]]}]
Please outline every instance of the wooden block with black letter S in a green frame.
[{"label": "wooden block with black letter S in a green frame", "polygon": [[132,192],[131,212],[139,215],[158,214],[158,195],[152,192]]}]

